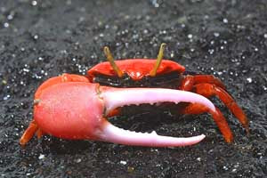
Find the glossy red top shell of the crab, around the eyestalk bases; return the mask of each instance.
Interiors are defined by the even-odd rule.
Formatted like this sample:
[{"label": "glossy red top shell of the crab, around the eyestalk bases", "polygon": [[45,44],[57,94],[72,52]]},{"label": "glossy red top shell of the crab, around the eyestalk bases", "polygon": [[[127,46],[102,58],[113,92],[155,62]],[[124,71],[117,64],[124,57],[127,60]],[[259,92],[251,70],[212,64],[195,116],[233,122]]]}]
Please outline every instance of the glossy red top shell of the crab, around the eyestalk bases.
[{"label": "glossy red top shell of the crab, around the eyestalk bases", "polygon": [[[150,71],[154,68],[156,60],[153,59],[128,59],[128,60],[117,60],[115,61],[117,67],[126,73],[133,80],[140,80],[142,77],[150,76]],[[166,74],[170,72],[182,73],[185,68],[174,62],[163,60],[157,70],[157,75]],[[116,72],[112,69],[109,61],[101,62],[94,66],[92,69],[87,71],[88,77],[93,77],[101,74],[105,76],[117,76]]]}]

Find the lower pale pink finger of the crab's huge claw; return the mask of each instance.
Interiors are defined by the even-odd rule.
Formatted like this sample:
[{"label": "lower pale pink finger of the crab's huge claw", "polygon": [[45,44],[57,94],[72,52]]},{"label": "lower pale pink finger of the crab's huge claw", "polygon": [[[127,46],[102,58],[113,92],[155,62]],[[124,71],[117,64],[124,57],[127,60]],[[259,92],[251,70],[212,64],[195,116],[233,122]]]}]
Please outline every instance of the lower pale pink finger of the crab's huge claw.
[{"label": "lower pale pink finger of the crab's huge claw", "polygon": [[115,125],[106,121],[102,132],[99,135],[99,140],[103,142],[114,142],[118,144],[145,146],[145,147],[182,147],[189,146],[201,142],[205,138],[204,134],[188,137],[175,138],[171,136],[161,136],[152,133],[136,133],[133,131],[118,128]]}]

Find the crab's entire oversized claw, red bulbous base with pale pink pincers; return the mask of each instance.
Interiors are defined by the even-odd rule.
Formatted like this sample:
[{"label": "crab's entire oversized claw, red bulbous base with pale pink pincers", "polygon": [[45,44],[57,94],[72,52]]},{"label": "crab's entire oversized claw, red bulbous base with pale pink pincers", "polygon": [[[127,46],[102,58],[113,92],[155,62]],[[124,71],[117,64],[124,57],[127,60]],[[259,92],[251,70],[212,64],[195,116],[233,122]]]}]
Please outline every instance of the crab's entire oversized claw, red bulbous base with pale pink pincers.
[{"label": "crab's entire oversized claw, red bulbous base with pale pink pincers", "polygon": [[34,106],[36,125],[46,134],[66,139],[88,139],[126,145],[176,147],[198,143],[205,135],[174,138],[135,133],[110,124],[109,111],[130,104],[193,102],[214,110],[214,105],[196,93],[159,88],[118,89],[85,82],[52,85],[38,93]]}]

